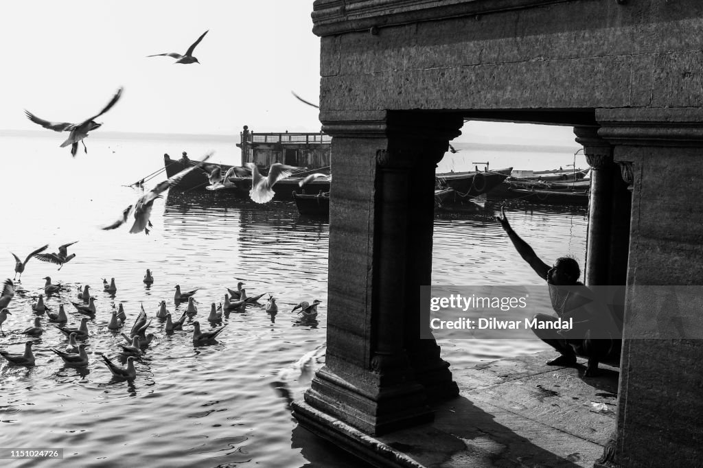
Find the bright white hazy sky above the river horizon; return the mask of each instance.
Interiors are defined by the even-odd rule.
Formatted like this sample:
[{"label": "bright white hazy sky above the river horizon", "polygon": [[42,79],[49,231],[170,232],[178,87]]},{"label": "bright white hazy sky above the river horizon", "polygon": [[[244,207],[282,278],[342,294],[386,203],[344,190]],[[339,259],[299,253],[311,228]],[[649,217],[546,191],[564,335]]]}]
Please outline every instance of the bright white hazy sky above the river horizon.
[{"label": "bright white hazy sky above the river horizon", "polygon": [[[42,130],[24,110],[52,122],[81,122],[115,91],[98,119],[104,131],[238,135],[318,131],[320,39],[312,0],[13,1],[3,8],[0,129]],[[176,65],[155,53],[193,55]],[[472,122],[456,141],[573,145],[569,127]],[[510,141],[508,141],[510,140]]]}]

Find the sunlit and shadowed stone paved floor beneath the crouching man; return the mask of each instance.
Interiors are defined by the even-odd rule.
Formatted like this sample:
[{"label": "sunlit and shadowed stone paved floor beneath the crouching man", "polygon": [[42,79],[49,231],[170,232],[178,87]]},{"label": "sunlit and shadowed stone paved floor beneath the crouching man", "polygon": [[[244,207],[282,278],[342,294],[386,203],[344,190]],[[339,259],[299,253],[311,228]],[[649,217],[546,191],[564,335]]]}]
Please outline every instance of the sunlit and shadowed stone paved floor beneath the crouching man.
[{"label": "sunlit and shadowed stone paved floor beneath the crouching man", "polygon": [[583,377],[585,360],[544,365],[553,357],[455,371],[460,396],[437,405],[431,424],[373,438],[335,422],[331,438],[378,466],[593,467],[615,427],[619,372],[600,365],[598,377]]}]

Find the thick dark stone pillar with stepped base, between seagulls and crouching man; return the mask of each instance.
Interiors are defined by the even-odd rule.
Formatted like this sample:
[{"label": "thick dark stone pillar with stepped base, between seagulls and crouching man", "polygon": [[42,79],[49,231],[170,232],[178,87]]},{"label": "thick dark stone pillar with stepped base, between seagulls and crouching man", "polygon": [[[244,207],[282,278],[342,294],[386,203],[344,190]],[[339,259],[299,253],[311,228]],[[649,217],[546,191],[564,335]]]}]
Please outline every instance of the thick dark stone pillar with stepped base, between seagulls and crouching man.
[{"label": "thick dark stone pillar with stepped base, between seagulls and crouching man", "polygon": [[[335,178],[327,356],[304,403],[294,404],[304,426],[315,431],[328,416],[378,435],[432,420],[408,357],[420,346],[412,340],[415,329],[419,338],[418,285],[430,284],[432,258],[432,209],[418,202],[432,203],[435,164],[462,124],[460,116],[388,112],[383,120],[323,126],[333,136]],[[420,375],[444,362],[438,353],[429,361]]]}]

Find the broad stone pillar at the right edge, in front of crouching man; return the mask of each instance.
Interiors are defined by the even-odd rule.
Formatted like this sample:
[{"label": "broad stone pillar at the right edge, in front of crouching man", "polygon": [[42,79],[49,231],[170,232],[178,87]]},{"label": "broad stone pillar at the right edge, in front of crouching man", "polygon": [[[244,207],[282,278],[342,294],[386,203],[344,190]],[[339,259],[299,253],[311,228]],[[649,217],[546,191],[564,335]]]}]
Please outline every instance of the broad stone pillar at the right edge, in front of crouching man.
[{"label": "broad stone pillar at the right edge, in front of crouching man", "polygon": [[[627,285],[634,287],[626,297],[617,431],[597,466],[690,466],[703,441],[703,342],[635,338],[676,304],[655,306],[670,301],[657,292],[664,288],[649,290],[662,295],[652,301],[634,294],[703,282],[703,110],[597,110],[596,119],[632,182]],[[678,308],[684,324],[701,315],[695,301]]]}]

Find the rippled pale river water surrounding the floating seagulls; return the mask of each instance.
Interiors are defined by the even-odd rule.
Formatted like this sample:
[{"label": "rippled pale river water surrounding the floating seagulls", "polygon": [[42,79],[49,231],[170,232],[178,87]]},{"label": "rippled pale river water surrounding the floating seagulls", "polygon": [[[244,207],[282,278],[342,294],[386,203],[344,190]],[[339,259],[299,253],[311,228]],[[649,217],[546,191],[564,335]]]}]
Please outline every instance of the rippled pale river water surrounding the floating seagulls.
[{"label": "rippled pale river water surrounding the floating seagulls", "polygon": [[[60,138],[58,138],[60,140]],[[188,150],[197,159],[217,150],[219,162],[238,163],[233,143],[92,139],[89,154],[72,159],[56,138],[4,138],[6,205],[0,238],[0,273],[12,277],[14,252],[22,259],[41,245],[48,252],[78,240],[69,248],[75,259],[60,271],[32,259],[3,324],[0,348],[21,352],[21,330],[32,325],[32,297],[43,292],[44,276],[66,286],[47,304],[66,304],[69,322],[80,314],[70,304],[77,285],[90,285],[98,311],[86,341],[91,363],[67,368],[50,349],[65,347],[63,334],[42,320],[45,332],[34,341],[37,365],[0,363],[0,447],[63,448],[63,462],[22,460],[3,466],[168,466],[265,467],[359,466],[356,460],[297,428],[288,401],[272,384],[288,382],[299,391],[310,372],[299,360],[323,360],[327,317],[329,226],[299,217],[290,203],[264,206],[232,200],[226,193],[173,191],[154,204],[150,235],[131,235],[123,227],[103,231],[141,190],[127,187],[162,166],[162,154]],[[165,176],[146,183],[153,187]],[[438,214],[435,221],[433,284],[541,284],[514,252],[492,219],[496,207],[482,204],[471,214]],[[571,253],[583,259],[584,210],[510,207],[515,230],[529,240],[545,261]],[[582,262],[581,262],[582,263]],[[146,287],[143,274],[155,276]],[[103,292],[101,278],[115,278],[114,297]],[[115,382],[101,354],[120,361],[119,331],[108,330],[113,304],[124,304],[127,330],[143,304],[150,317],[157,304],[175,306],[174,286],[200,288],[196,318],[207,325],[209,304],[223,300],[226,287],[245,282],[249,295],[267,292],[278,299],[273,318],[263,306],[225,318],[219,344],[193,347],[191,333],[167,334],[153,320],[155,334],[137,360],[133,383]],[[301,322],[290,313],[299,301],[320,299],[318,320]],[[263,303],[262,303],[263,304]],[[127,331],[126,330],[126,331]],[[479,360],[545,349],[537,340],[456,340],[441,342],[453,368]],[[313,356],[313,357],[311,357]],[[314,356],[318,356],[317,360]],[[124,360],[123,360],[124,362]],[[4,463],[8,462],[8,463]]]}]

